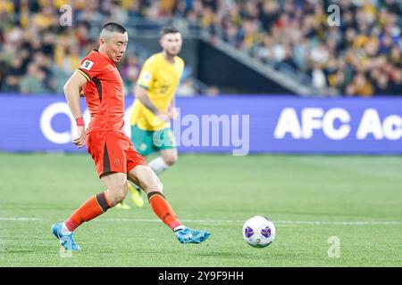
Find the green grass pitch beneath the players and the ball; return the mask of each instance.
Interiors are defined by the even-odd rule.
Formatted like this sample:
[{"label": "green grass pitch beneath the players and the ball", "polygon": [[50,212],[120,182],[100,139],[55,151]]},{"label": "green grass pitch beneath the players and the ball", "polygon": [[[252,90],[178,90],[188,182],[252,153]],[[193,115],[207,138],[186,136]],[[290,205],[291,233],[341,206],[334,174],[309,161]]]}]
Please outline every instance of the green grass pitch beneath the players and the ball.
[{"label": "green grass pitch beneath the players and the ball", "polygon": [[[83,224],[69,257],[50,226],[104,190],[90,157],[0,154],[0,266],[400,266],[401,169],[402,157],[180,155],[164,193],[210,240],[180,244],[146,203]],[[267,248],[242,238],[258,214],[276,224]]]}]

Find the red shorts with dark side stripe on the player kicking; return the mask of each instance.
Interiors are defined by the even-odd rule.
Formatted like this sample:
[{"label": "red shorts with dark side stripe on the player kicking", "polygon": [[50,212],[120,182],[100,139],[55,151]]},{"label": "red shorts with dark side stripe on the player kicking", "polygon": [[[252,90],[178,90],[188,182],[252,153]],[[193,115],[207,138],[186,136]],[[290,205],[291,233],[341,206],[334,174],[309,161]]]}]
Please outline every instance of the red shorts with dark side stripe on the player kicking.
[{"label": "red shorts with dark side stripe on the player kicking", "polygon": [[87,134],[88,152],[95,161],[99,177],[120,172],[129,173],[138,165],[147,165],[138,151],[134,149],[130,139],[116,132],[93,132]]}]

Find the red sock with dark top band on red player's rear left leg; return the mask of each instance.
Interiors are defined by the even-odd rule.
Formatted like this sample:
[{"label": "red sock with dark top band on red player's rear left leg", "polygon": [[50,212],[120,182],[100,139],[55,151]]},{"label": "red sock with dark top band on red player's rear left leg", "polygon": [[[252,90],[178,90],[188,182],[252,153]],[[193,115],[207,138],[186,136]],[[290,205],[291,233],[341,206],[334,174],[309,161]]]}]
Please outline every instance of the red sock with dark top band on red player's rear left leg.
[{"label": "red sock with dark top band on red player's rear left leg", "polygon": [[108,208],[111,208],[111,206],[106,200],[105,192],[99,193],[96,196],[89,198],[64,223],[72,232],[79,227],[80,224],[88,222],[96,216],[105,213]]}]

